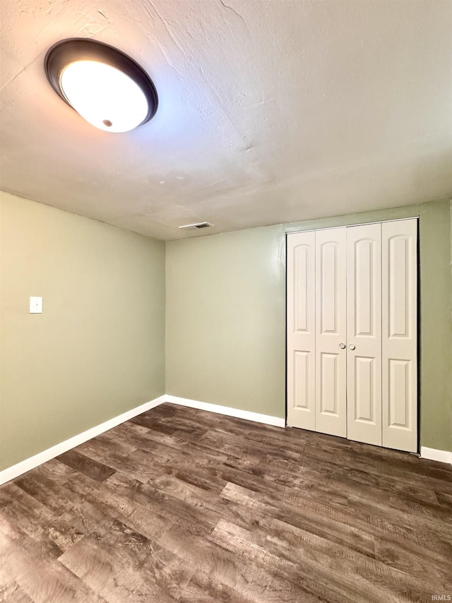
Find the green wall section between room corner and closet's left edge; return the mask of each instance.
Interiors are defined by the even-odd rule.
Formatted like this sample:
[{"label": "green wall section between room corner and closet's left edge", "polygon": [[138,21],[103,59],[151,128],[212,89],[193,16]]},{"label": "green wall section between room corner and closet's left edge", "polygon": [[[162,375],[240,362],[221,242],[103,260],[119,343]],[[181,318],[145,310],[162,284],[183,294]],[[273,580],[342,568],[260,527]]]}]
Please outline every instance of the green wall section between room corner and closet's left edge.
[{"label": "green wall section between room corner and closet's left edge", "polygon": [[167,393],[285,415],[280,226],[167,243]]}]

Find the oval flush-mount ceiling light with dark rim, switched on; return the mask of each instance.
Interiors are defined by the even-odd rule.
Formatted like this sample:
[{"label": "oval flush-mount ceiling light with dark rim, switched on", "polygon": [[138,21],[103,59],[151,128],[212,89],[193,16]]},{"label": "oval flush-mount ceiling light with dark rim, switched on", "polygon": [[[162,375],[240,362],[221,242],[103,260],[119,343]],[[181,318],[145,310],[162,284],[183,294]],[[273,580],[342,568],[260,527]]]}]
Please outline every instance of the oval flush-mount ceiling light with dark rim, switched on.
[{"label": "oval flush-mount ceiling light with dark rim, switched on", "polygon": [[54,44],[44,59],[52,88],[90,124],[107,132],[127,132],[157,111],[155,86],[123,52],[88,38]]}]

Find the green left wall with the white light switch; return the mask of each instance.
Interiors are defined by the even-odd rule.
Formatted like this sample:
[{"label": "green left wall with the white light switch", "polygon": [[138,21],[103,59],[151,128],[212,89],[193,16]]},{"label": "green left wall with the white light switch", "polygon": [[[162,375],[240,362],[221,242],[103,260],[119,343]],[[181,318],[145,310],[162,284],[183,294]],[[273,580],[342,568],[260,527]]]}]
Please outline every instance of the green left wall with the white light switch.
[{"label": "green left wall with the white light switch", "polygon": [[7,193],[0,218],[1,470],[164,393],[165,244]]}]

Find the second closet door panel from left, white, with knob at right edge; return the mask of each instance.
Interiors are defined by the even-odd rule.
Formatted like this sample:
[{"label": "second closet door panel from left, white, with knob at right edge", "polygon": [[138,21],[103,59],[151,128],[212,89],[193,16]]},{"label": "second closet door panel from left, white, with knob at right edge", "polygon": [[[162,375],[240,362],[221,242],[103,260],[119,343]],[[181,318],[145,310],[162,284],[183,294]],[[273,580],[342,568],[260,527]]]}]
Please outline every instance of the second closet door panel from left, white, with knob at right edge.
[{"label": "second closet door panel from left, white, with knob at right edge", "polygon": [[316,232],[316,431],[342,437],[347,436],[346,230]]}]

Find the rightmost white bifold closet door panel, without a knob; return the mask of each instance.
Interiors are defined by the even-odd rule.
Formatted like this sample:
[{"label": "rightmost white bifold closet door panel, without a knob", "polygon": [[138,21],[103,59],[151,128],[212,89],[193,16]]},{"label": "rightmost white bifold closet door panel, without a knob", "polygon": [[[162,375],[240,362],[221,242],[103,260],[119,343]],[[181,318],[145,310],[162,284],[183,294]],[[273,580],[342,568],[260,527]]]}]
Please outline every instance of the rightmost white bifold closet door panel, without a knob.
[{"label": "rightmost white bifold closet door panel, without a knob", "polygon": [[417,452],[417,220],[381,233],[383,446]]}]

